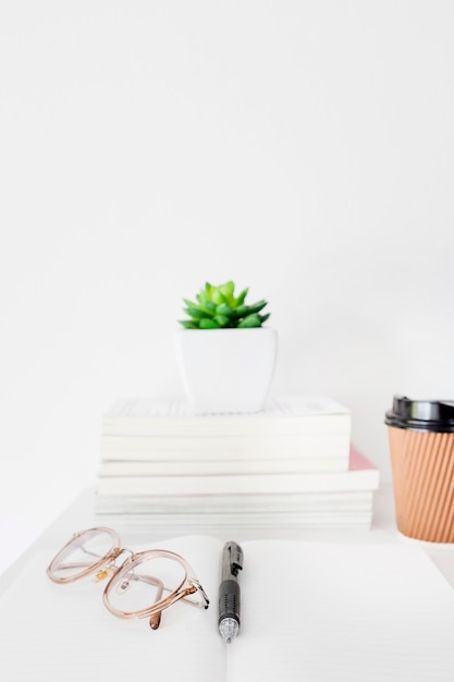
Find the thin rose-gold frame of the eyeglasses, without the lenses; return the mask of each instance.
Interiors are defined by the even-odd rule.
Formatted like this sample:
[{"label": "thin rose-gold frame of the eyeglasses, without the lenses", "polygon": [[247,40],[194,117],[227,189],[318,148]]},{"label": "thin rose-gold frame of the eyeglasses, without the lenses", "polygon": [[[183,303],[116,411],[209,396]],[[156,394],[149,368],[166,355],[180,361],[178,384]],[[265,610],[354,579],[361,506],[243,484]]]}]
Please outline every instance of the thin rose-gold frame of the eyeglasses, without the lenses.
[{"label": "thin rose-gold frame of the eyeglasses, without the lenses", "polygon": [[[60,557],[64,557],[66,550],[71,547],[71,545],[73,545],[78,538],[83,537],[85,534],[97,532],[107,533],[111,537],[113,543],[112,549],[103,557],[100,557],[98,561],[83,570],[81,573],[76,573],[68,577],[54,575],[52,572],[54,564],[58,563]],[[116,567],[114,563],[115,560],[125,552],[128,552],[131,556],[127,557],[120,567]],[[152,606],[140,609],[138,611],[121,611],[119,609],[115,609],[109,601],[109,589],[113,585],[113,583],[119,580],[119,576],[122,575],[123,572],[126,574],[127,571],[133,570],[134,567],[138,565],[139,563],[143,563],[148,559],[157,558],[167,558],[176,561],[183,567],[185,575],[180,585],[177,585],[175,589],[171,590],[168,597],[165,597],[164,599],[160,599],[164,588],[162,582],[160,581],[160,579],[148,576],[149,579],[151,579],[151,581],[155,582],[158,587],[158,600],[155,601]],[[85,531],[74,533],[73,537],[53,557],[46,572],[48,577],[50,577],[50,580],[54,583],[68,584],[75,583],[78,580],[91,575],[95,572],[98,572],[99,576],[99,574],[102,573],[101,569],[106,567],[106,564],[108,564],[108,567],[105,569],[106,575],[102,575],[101,577],[99,577],[99,580],[103,580],[109,575],[111,571],[113,572],[105,587],[102,601],[108,611],[110,611],[113,616],[116,616],[118,618],[122,618],[125,620],[135,620],[138,618],[149,617],[149,625],[151,630],[157,630],[161,622],[162,611],[171,607],[180,599],[182,599],[186,604],[191,604],[192,606],[208,609],[209,599],[207,597],[207,594],[205,593],[205,589],[203,588],[198,577],[196,576],[194,569],[185,559],[183,559],[183,557],[167,549],[147,549],[145,551],[133,552],[131,549],[121,547],[121,541],[118,533],[107,526],[95,526],[93,528],[86,528]],[[145,576],[140,576],[140,579],[144,580]],[[195,600],[193,598],[189,598],[189,595],[198,595],[199,599]]]}]

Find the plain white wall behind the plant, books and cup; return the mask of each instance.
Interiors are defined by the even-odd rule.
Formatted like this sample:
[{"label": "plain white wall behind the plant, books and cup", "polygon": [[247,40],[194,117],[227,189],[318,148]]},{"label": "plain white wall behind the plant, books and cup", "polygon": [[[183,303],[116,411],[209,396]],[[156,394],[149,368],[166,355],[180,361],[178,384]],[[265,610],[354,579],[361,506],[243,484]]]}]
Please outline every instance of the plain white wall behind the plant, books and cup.
[{"label": "plain white wall behind the plant, books and cup", "polygon": [[453,35],[450,0],[0,4],[3,565],[118,397],[181,392],[206,280],[269,301],[273,391],[348,405],[390,477],[393,393],[454,397]]}]

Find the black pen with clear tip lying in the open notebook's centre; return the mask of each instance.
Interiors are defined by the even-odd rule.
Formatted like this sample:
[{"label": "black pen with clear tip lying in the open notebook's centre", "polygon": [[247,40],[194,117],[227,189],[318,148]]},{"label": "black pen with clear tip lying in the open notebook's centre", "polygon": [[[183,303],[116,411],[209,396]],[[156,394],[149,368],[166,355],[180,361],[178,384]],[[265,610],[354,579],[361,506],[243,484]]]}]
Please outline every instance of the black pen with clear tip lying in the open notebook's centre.
[{"label": "black pen with clear tip lying in the open notebook's centre", "polygon": [[218,628],[221,636],[228,644],[236,637],[240,630],[238,571],[242,569],[242,548],[236,543],[226,543],[222,552]]}]

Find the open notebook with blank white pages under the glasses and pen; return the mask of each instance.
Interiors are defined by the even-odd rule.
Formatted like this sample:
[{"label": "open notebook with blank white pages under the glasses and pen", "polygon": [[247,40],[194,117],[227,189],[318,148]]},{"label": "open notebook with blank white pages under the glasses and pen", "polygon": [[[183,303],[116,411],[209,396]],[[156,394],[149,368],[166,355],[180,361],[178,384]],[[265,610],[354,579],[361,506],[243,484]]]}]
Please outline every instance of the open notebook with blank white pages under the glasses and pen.
[{"label": "open notebook with blank white pages under the glasses and pen", "polygon": [[193,565],[210,598],[208,610],[179,602],[154,632],[147,620],[109,613],[102,583],[49,581],[52,556],[38,553],[0,599],[2,679],[454,679],[454,590],[419,547],[243,543],[242,629],[226,645],[217,630],[223,543],[197,536],[159,546]]}]

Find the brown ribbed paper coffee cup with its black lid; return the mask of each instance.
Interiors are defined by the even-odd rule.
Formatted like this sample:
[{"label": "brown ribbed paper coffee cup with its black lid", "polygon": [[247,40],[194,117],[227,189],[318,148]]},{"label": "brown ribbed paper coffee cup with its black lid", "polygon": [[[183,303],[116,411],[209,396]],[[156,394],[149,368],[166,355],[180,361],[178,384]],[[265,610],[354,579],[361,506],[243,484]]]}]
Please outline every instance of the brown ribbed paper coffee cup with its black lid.
[{"label": "brown ribbed paper coffee cup with its black lid", "polygon": [[454,401],[394,395],[385,414],[397,528],[454,543]]}]

